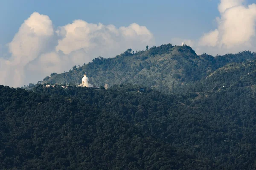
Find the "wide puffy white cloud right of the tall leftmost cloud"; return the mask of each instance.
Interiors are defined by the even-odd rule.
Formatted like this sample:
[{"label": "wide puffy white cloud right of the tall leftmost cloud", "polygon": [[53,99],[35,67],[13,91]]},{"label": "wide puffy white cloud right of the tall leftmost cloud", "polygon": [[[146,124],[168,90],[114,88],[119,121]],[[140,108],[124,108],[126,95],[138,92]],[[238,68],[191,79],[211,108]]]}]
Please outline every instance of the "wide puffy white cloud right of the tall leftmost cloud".
[{"label": "wide puffy white cloud right of the tall leftmost cloud", "polygon": [[148,43],[152,45],[153,42],[153,34],[145,26],[139,26],[136,23],[128,27],[116,28],[113,25],[105,26],[101,23],[91,24],[83,20],[75,20],[72,24],[60,27],[56,33],[61,38],[58,40],[56,51],[61,50],[64,54],[80,49],[90,52],[93,49],[103,48],[105,51],[108,48],[112,51],[116,46],[136,48],[133,45],[134,42],[137,42],[137,45],[144,44],[144,46]]}]

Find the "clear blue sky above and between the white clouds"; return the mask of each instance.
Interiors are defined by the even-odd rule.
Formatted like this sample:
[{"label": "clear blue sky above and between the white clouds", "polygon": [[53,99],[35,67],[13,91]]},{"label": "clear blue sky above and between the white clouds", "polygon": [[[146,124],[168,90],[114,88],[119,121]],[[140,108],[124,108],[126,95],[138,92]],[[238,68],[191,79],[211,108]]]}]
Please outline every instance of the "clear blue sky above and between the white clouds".
[{"label": "clear blue sky above and between the white clouds", "polygon": [[146,26],[156,44],[173,37],[193,39],[215,27],[218,0],[1,0],[0,44],[11,42],[33,12],[50,17],[55,27],[81,19],[116,27]]}]

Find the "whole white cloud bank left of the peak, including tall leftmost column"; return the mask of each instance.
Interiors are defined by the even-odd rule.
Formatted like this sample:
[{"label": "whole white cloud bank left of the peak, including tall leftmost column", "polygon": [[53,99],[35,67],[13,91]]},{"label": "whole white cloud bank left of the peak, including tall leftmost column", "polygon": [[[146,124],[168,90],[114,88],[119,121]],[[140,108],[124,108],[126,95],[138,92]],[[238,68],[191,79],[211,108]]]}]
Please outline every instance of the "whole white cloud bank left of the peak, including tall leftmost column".
[{"label": "whole white cloud bank left of the peak, including tall leftmost column", "polygon": [[146,45],[154,45],[154,36],[136,23],[116,28],[74,20],[54,29],[47,15],[34,12],[8,44],[10,57],[0,58],[0,84],[20,87],[99,55],[114,57],[127,48],[139,50]]}]

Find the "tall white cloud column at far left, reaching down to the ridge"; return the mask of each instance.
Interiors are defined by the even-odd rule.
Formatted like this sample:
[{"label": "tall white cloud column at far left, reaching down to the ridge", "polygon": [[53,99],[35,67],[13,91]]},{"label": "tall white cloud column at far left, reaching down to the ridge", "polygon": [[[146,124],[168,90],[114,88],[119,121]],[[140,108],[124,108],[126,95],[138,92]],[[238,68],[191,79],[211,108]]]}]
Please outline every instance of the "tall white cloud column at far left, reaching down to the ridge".
[{"label": "tall white cloud column at far left, reaching down to the ridge", "polygon": [[0,84],[20,86],[25,79],[25,66],[46,50],[53,33],[52,21],[48,16],[37,12],[31,14],[8,44],[11,56],[1,59]]}]

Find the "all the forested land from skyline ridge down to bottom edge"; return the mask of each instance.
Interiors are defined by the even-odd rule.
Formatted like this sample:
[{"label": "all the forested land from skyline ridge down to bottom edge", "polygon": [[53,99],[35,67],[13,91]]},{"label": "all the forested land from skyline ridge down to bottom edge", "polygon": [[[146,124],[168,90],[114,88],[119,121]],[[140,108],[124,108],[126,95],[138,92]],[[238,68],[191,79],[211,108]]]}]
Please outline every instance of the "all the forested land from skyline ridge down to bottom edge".
[{"label": "all the forested land from skyline ridge down to bottom edge", "polygon": [[[0,85],[0,169],[256,169],[255,53],[131,51]],[[100,88],[76,87],[84,72]]]}]

